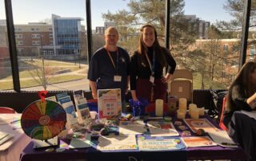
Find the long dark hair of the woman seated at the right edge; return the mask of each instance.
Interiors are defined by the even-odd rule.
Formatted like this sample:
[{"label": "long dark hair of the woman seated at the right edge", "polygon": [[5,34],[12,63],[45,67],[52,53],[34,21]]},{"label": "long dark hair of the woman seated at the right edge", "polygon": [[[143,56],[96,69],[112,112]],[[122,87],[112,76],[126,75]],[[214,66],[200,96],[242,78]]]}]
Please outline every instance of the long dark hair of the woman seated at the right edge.
[{"label": "long dark hair of the woman seated at the right edge", "polygon": [[232,84],[230,85],[229,92],[227,95],[226,109],[231,109],[230,100],[232,100],[231,90],[234,85],[239,84],[246,90],[246,97],[249,98],[254,94],[255,84],[252,83],[250,74],[254,73],[256,69],[256,63],[253,61],[246,62],[246,64],[242,65],[242,69],[240,69],[238,76],[234,79]]}]

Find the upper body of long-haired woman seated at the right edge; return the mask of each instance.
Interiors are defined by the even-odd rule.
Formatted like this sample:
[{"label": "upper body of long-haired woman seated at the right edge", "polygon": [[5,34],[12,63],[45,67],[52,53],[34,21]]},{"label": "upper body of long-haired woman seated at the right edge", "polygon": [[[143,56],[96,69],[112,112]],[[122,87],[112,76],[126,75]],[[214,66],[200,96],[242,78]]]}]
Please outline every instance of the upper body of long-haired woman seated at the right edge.
[{"label": "upper body of long-haired woman seated at the right edge", "polygon": [[252,111],[256,108],[256,63],[242,65],[238,76],[232,82],[227,95],[223,123],[229,127],[235,111]]}]

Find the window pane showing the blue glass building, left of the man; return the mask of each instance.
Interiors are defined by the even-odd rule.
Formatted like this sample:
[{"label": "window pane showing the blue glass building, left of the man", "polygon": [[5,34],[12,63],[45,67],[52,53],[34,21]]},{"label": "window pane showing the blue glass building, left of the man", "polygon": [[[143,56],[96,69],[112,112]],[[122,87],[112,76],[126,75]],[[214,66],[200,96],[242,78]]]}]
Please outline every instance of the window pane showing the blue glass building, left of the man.
[{"label": "window pane showing the blue glass building, left of the man", "polygon": [[12,0],[12,6],[22,90],[89,89],[85,1]]}]

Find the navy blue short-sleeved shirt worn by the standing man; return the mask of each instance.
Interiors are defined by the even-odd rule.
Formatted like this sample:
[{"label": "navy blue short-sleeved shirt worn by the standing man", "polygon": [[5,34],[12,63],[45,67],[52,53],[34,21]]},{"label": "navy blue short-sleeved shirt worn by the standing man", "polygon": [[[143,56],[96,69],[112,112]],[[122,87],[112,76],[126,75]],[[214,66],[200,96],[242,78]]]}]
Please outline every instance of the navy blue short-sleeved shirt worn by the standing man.
[{"label": "navy blue short-sleeved shirt worn by the standing man", "polygon": [[[106,49],[102,47],[91,58],[87,78],[90,81],[95,81],[98,89],[121,88],[122,100],[125,100],[130,57],[125,49],[118,47],[117,65],[117,52],[110,52],[110,55],[116,68],[114,68]],[[114,81],[116,75],[121,76],[122,81]]]}]

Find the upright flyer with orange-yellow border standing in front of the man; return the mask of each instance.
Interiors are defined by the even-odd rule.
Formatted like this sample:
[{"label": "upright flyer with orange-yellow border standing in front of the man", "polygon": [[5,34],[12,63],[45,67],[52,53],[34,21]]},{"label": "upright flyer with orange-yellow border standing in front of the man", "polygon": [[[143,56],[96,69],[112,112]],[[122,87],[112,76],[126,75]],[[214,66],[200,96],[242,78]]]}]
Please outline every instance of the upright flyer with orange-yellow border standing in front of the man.
[{"label": "upright flyer with orange-yellow border standing in front of the man", "polygon": [[121,89],[98,89],[99,118],[113,119],[121,116]]}]

